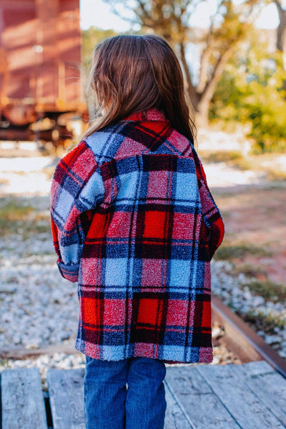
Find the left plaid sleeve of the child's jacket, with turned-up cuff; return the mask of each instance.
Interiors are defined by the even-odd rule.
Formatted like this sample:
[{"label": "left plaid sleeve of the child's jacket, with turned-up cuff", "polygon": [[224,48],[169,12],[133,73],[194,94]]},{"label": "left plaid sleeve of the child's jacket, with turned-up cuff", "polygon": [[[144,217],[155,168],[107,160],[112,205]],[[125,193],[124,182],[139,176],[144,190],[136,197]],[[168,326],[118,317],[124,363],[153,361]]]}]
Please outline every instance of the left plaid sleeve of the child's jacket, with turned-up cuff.
[{"label": "left plaid sleeve of the child's jacket, with turned-up cuff", "polygon": [[56,166],[51,189],[51,223],[58,268],[64,278],[78,281],[85,233],[80,214],[96,208],[104,184],[94,153],[80,142]]}]

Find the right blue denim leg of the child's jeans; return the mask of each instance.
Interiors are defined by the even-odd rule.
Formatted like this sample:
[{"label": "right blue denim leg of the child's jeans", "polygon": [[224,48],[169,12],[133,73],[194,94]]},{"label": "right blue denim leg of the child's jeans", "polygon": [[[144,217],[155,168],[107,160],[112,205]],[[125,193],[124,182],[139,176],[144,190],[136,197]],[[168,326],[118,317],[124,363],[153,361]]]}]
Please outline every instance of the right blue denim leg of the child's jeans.
[{"label": "right blue denim leg of the child's jeans", "polygon": [[131,358],[127,378],[126,429],[163,429],[166,412],[161,360]]}]

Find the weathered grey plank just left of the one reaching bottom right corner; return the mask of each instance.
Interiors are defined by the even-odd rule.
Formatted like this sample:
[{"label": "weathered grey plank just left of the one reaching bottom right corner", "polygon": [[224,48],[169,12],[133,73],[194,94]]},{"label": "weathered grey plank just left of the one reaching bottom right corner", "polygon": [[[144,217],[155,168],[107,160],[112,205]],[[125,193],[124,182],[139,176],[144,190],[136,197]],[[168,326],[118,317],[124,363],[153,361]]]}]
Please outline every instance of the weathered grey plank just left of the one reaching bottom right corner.
[{"label": "weathered grey plank just left of the one reaching bottom right corner", "polygon": [[220,399],[197,371],[197,367],[169,367],[165,380],[194,428],[239,428],[228,410],[221,404]]}]

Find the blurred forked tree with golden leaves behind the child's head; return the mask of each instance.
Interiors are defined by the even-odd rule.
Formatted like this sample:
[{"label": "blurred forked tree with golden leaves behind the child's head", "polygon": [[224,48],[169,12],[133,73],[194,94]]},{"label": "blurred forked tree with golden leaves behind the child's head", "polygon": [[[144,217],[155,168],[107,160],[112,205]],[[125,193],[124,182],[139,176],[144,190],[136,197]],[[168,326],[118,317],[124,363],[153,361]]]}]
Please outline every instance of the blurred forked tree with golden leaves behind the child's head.
[{"label": "blurred forked tree with golden leaves behind the child's head", "polygon": [[[105,0],[107,1],[107,0]],[[210,100],[219,83],[223,69],[236,46],[245,39],[253,21],[254,5],[248,0],[234,5],[232,0],[218,0],[217,12],[210,18],[210,26],[198,31],[190,28],[190,17],[199,3],[206,0],[108,0],[113,11],[122,16],[122,6],[133,10],[133,22],[139,23],[142,32],[155,32],[163,36],[177,52],[184,69],[188,96],[199,122],[207,122]],[[118,10],[120,5],[120,11]],[[199,33],[199,37],[197,34]],[[195,79],[186,58],[188,43],[203,45],[199,78]]]}]

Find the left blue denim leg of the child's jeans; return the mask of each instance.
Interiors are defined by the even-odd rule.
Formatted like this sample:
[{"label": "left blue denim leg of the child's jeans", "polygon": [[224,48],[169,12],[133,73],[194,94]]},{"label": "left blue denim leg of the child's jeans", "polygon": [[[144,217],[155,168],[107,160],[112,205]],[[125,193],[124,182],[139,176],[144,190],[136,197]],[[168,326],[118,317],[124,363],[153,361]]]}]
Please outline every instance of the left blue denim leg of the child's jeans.
[{"label": "left blue denim leg of the child's jeans", "polygon": [[128,360],[86,356],[84,378],[86,429],[124,429]]}]

